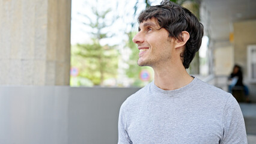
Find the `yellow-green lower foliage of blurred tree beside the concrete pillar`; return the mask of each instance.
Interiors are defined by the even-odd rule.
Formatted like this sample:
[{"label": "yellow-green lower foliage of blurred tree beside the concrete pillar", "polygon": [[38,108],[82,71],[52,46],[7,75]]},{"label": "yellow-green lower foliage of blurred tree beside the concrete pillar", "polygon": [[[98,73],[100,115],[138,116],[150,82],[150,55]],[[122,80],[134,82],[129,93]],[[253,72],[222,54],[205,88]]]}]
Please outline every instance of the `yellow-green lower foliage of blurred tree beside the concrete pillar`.
[{"label": "yellow-green lower foliage of blurred tree beside the concrete pillar", "polygon": [[117,75],[119,53],[114,47],[93,43],[77,44],[72,49],[79,77],[91,80],[93,85],[103,85],[104,80]]}]

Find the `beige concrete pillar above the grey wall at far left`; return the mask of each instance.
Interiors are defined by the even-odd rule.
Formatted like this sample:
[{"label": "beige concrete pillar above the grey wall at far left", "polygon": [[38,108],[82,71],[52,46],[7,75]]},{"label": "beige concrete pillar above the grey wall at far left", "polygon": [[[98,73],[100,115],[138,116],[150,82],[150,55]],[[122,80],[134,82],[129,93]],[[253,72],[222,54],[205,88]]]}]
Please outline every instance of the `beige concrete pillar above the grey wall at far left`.
[{"label": "beige concrete pillar above the grey wall at far left", "polygon": [[69,85],[71,0],[0,0],[0,85]]}]

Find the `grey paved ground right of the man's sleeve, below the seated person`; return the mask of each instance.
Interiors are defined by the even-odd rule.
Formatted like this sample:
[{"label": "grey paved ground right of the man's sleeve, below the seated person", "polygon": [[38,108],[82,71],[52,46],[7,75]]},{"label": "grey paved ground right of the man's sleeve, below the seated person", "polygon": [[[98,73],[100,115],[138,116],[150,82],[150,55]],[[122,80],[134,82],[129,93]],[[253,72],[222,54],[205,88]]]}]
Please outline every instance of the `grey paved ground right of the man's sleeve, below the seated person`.
[{"label": "grey paved ground right of the man's sleeve, below the seated person", "polygon": [[256,103],[239,103],[245,118],[248,144],[256,144]]}]

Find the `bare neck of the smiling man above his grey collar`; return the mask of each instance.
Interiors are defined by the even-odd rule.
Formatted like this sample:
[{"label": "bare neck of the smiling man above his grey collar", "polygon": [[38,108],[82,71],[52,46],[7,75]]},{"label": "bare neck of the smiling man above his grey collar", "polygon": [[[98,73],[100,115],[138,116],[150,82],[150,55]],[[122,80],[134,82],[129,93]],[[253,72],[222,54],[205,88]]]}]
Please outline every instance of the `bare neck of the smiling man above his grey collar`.
[{"label": "bare neck of the smiling man above his grey collar", "polygon": [[188,85],[194,79],[184,67],[154,69],[154,84],[163,90],[174,90]]}]

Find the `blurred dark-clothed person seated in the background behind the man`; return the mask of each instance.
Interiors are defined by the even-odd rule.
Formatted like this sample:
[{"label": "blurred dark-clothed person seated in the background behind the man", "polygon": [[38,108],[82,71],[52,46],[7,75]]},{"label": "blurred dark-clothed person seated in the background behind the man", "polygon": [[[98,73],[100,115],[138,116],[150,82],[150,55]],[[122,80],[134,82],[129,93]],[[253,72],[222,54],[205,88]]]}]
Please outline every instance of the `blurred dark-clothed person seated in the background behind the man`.
[{"label": "blurred dark-clothed person seated in the background behind the man", "polygon": [[228,86],[228,92],[232,94],[233,88],[240,87],[245,92],[246,102],[249,102],[249,89],[246,85],[243,85],[243,73],[242,68],[239,65],[234,65],[233,72],[228,79],[231,80],[231,83]]}]

